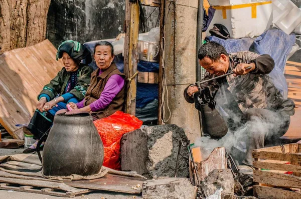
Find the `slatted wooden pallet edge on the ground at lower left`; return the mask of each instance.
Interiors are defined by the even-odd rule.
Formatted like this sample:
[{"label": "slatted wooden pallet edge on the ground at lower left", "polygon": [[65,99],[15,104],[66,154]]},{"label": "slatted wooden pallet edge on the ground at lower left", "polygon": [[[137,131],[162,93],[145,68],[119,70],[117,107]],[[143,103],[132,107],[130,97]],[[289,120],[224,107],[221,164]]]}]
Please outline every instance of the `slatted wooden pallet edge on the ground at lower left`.
[{"label": "slatted wooden pallet edge on the ground at lower left", "polygon": [[84,189],[78,192],[68,192],[68,191],[63,191],[63,190],[53,189],[53,188],[41,188],[38,186],[20,186],[19,184],[11,184],[11,183],[0,183],[0,189],[22,191],[22,192],[29,192],[29,193],[39,193],[39,194],[54,195],[54,196],[61,196],[61,197],[75,197],[76,195],[93,191],[89,189]]}]

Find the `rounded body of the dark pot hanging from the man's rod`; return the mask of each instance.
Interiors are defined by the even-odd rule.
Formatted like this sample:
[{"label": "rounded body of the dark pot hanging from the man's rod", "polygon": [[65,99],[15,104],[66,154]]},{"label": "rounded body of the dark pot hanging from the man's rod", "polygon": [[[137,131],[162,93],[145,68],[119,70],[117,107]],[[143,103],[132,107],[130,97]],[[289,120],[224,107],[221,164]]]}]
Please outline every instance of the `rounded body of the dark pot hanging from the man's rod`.
[{"label": "rounded body of the dark pot hanging from the man's rod", "polygon": [[228,132],[228,126],[224,118],[214,108],[210,108],[208,103],[200,105],[202,112],[202,128],[205,134],[211,138],[222,138]]}]

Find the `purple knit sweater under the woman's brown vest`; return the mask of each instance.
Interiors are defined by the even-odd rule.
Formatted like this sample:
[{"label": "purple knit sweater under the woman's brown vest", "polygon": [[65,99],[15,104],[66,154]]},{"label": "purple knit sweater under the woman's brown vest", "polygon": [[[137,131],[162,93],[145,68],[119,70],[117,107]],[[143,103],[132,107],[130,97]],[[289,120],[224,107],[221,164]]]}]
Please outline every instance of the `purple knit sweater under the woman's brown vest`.
[{"label": "purple knit sweater under the woman's brown vest", "polygon": [[[103,72],[102,70],[99,70],[98,75],[100,75],[102,72]],[[110,78],[108,79],[107,83],[104,86],[103,91],[100,94],[99,99],[93,101],[90,104],[91,110],[98,111],[108,106],[113,100],[113,98],[116,96],[116,94],[120,92],[123,85],[124,85],[124,79],[122,78],[122,76],[120,76],[119,74],[113,74],[112,76],[110,76]],[[76,103],[76,105],[78,108],[84,107],[85,99]]]}]

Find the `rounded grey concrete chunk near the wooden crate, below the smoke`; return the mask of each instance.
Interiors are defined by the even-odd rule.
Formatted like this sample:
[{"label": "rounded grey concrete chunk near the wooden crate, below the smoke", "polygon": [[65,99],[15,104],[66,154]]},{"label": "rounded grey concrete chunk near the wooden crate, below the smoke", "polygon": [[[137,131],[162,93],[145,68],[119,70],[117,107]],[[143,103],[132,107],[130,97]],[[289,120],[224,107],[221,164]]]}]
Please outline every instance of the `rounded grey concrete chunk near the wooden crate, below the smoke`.
[{"label": "rounded grey concrete chunk near the wooden crate, below the smoke", "polygon": [[234,194],[234,178],[230,169],[214,169],[201,184],[202,191],[206,197],[223,188],[222,194]]}]

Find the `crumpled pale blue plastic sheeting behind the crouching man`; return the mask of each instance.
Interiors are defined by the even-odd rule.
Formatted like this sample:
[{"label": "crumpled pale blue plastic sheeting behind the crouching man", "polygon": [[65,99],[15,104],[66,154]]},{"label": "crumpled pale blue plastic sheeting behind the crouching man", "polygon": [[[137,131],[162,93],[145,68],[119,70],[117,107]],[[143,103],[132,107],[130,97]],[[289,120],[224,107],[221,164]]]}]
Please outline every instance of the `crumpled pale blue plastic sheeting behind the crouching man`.
[{"label": "crumpled pale blue plastic sheeting behind the crouching man", "polygon": [[209,41],[215,41],[223,45],[228,53],[249,50],[258,54],[269,54],[275,61],[275,67],[269,76],[283,97],[287,97],[287,84],[283,70],[287,56],[295,43],[293,33],[288,35],[280,29],[272,28],[263,32],[256,39],[246,37],[224,40],[215,36],[206,38]]}]

